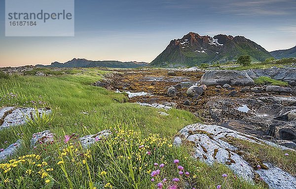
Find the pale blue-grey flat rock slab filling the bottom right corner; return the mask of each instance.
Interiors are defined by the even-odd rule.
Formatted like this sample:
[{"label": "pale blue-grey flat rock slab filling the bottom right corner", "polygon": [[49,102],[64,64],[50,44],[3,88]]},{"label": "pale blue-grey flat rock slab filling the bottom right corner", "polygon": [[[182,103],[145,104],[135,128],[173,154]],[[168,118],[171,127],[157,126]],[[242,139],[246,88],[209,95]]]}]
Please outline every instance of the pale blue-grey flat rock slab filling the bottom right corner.
[{"label": "pale blue-grey flat rock slab filling the bottom right corner", "polygon": [[264,165],[268,167],[267,170],[260,169],[255,172],[263,178],[269,189],[295,189],[295,177],[270,163]]}]

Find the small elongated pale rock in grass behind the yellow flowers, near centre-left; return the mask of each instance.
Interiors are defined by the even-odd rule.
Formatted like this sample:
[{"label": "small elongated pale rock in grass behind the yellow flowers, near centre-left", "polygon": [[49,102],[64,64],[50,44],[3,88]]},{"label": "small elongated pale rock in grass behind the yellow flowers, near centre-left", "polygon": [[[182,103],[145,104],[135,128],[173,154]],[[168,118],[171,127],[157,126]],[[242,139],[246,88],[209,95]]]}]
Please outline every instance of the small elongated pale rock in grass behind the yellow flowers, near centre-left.
[{"label": "small elongated pale rock in grass behind the yellow flowers, near centre-left", "polygon": [[84,137],[79,138],[79,141],[81,142],[82,148],[88,148],[92,144],[101,141],[102,139],[108,138],[111,135],[110,130],[103,130],[95,135],[87,135]]}]

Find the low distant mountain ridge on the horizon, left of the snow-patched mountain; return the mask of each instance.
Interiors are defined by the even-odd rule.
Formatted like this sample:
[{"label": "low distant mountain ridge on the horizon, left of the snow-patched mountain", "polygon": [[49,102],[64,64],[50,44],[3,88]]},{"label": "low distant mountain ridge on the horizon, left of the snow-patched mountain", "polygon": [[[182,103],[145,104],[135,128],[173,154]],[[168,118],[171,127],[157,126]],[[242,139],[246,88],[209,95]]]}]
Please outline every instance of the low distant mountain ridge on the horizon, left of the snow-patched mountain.
[{"label": "low distant mountain ridge on the horizon, left of the snow-patched mountain", "polygon": [[147,66],[145,62],[120,62],[120,61],[92,61],[86,59],[70,60],[65,63],[53,62],[51,65],[36,65],[36,67],[58,67],[58,68],[89,68],[89,67],[108,67],[108,68],[137,68]]}]

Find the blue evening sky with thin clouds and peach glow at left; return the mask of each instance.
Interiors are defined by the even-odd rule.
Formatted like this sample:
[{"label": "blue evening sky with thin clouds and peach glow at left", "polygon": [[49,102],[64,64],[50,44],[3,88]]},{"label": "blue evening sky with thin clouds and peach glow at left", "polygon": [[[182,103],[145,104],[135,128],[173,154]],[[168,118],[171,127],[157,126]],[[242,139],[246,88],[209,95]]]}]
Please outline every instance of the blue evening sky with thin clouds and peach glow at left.
[{"label": "blue evening sky with thin clouds and peach glow at left", "polygon": [[244,36],[267,51],[296,45],[296,0],[75,0],[74,37],[5,37],[0,67],[73,58],[151,62],[189,32]]}]

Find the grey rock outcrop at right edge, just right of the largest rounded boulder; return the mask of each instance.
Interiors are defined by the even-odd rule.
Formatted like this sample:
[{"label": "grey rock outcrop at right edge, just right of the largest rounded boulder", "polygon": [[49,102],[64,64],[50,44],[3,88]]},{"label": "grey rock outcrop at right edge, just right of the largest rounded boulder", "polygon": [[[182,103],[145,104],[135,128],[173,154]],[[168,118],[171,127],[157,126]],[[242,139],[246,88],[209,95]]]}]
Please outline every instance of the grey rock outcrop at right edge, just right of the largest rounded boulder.
[{"label": "grey rock outcrop at right edge, just right of the largest rounded boulder", "polygon": [[248,70],[247,74],[252,78],[256,79],[260,76],[267,76],[275,80],[287,81],[290,85],[296,86],[296,68],[267,68]]}]

